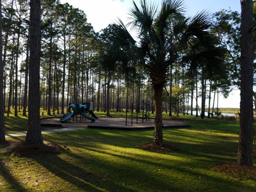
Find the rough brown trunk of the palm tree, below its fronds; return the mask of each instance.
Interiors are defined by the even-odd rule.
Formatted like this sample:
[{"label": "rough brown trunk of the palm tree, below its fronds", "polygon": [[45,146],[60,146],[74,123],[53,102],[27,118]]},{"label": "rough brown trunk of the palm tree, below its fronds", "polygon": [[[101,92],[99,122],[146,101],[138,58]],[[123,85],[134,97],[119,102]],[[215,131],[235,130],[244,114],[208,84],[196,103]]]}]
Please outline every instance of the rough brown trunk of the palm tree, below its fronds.
[{"label": "rough brown trunk of the palm tree, below its fronds", "polygon": [[163,139],[163,121],[162,121],[162,95],[163,95],[164,84],[153,85],[154,89],[154,102],[155,102],[155,132],[154,132],[154,143],[162,146],[164,143]]}]

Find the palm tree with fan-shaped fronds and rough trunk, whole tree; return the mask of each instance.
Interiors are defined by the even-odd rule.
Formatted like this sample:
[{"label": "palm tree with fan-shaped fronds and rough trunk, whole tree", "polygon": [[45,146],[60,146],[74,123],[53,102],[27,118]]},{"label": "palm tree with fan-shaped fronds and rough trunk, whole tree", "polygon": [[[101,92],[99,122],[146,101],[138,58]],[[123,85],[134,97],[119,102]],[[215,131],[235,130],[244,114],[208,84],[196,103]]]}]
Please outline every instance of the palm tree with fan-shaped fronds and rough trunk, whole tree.
[{"label": "palm tree with fan-shaped fronds and rough trunk, whole tree", "polygon": [[[146,69],[150,77],[155,104],[154,143],[157,145],[164,143],[162,96],[170,66],[180,60],[190,63],[193,68],[196,66],[196,69],[197,65],[209,65],[206,71],[220,69],[221,62],[218,57],[221,54],[212,43],[213,37],[209,30],[210,18],[205,12],[197,14],[192,19],[185,18],[182,15],[185,9],[182,2],[181,0],[164,0],[160,9],[156,4],[147,4],[145,0],[140,1],[140,7],[133,2],[134,7],[130,10],[128,25],[138,33],[139,41],[135,43],[123,23],[120,22],[119,29],[115,32],[118,35],[113,36],[111,44],[116,48],[113,52],[118,57],[120,51],[125,50],[124,47],[129,47],[129,51],[122,52],[122,54],[132,53],[133,59]],[[192,45],[195,47],[189,48]],[[121,50],[120,47],[122,47]],[[184,57],[186,49],[194,50],[194,54]],[[211,51],[213,54],[209,55]],[[211,61],[212,58],[214,60]]]}]

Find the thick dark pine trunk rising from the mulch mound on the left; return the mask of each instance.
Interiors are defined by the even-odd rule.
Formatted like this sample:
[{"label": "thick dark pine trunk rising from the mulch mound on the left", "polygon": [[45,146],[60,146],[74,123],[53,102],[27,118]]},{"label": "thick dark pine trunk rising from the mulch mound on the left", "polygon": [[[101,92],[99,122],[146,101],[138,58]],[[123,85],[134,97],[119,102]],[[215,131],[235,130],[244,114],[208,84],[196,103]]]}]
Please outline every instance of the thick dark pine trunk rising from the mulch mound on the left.
[{"label": "thick dark pine trunk rising from the mulch mound on the left", "polygon": [[41,0],[30,1],[28,130],[26,141],[43,144],[40,123]]}]

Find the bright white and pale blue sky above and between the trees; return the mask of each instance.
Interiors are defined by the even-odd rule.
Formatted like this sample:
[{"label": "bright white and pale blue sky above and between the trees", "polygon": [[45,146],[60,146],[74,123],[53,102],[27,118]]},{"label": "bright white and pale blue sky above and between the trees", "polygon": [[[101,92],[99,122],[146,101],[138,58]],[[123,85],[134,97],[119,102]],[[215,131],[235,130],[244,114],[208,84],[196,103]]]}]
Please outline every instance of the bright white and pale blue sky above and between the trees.
[{"label": "bright white and pale blue sky above and between the trees", "polygon": [[[139,3],[140,0],[134,0]],[[106,28],[110,23],[115,23],[120,18],[127,23],[128,12],[133,7],[132,0],[60,0],[75,8],[81,9],[86,14],[87,22],[92,24],[93,29],[98,32]],[[161,5],[162,0],[151,0],[151,2]],[[239,0],[186,0],[186,14],[193,17],[198,12],[206,10],[214,13],[221,9],[241,12]],[[240,93],[233,91],[228,99],[222,95],[219,97],[219,108],[239,108]],[[208,101],[206,101],[208,103]],[[216,102],[215,102],[216,103]]]}]

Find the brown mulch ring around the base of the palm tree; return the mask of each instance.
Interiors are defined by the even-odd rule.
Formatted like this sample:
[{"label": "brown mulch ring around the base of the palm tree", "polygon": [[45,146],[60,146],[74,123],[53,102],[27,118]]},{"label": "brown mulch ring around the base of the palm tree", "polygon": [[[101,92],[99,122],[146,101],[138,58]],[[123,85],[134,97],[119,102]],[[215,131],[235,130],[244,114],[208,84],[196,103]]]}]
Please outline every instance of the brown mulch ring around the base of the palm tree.
[{"label": "brown mulch ring around the base of the palm tree", "polygon": [[171,145],[156,145],[156,143],[146,143],[139,146],[140,149],[143,150],[149,150],[149,151],[161,151],[161,152],[167,152],[167,151],[179,151],[180,149]]}]

